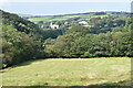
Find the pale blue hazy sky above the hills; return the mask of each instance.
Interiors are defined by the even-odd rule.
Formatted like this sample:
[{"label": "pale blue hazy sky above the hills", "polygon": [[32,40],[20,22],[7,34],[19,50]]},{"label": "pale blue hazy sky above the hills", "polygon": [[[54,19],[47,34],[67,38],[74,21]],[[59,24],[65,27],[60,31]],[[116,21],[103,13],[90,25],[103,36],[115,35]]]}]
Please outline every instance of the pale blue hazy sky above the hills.
[{"label": "pale blue hazy sky above the hills", "polygon": [[131,0],[0,0],[11,13],[58,15],[99,11],[131,11]]}]

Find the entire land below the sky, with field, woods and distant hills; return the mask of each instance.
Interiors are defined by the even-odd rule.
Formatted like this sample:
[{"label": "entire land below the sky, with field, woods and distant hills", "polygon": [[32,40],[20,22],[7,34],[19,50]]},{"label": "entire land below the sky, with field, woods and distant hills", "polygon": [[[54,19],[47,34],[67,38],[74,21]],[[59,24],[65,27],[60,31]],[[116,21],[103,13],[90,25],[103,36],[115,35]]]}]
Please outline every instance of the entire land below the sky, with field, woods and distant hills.
[{"label": "entire land below the sky, with field, woods and distant hills", "polygon": [[130,13],[2,13],[3,86],[131,86]]}]

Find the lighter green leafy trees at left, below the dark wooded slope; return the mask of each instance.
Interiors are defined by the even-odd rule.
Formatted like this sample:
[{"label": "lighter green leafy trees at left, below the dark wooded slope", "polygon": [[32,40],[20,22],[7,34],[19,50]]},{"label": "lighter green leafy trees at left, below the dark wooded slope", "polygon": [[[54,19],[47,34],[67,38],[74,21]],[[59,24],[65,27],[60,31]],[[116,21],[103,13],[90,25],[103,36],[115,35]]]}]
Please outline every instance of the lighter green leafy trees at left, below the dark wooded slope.
[{"label": "lighter green leafy trees at left, below the dark wooded slope", "polygon": [[12,25],[3,26],[3,65],[11,66],[43,57],[43,47],[37,37],[19,32]]}]

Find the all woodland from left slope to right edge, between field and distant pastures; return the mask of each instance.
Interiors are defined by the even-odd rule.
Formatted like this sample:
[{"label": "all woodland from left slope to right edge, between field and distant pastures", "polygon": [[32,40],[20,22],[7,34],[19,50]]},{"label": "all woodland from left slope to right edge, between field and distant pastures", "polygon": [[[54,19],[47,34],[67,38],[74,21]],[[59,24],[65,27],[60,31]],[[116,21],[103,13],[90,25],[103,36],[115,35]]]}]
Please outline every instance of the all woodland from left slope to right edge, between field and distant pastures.
[{"label": "all woodland from left slope to right edge, between field and distant pastures", "polygon": [[[133,20],[129,13],[112,12],[116,15],[102,16],[108,13],[95,12],[93,15],[96,16],[82,21],[85,24],[80,24],[81,16],[75,15],[65,21],[40,21],[34,24],[17,14],[4,11],[2,13],[0,56],[3,68],[30,59],[49,57],[133,56]],[[60,28],[52,29],[51,23]]]}]

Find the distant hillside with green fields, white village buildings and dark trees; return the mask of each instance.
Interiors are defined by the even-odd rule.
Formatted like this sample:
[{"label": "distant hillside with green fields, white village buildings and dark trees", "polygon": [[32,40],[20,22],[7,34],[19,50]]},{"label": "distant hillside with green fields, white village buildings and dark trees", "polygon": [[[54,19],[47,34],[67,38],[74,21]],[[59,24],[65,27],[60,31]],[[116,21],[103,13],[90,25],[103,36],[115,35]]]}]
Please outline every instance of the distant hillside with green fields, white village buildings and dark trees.
[{"label": "distant hillside with green fields, white village buildings and dark trees", "polygon": [[[83,25],[91,29],[90,33],[99,34],[112,31],[117,26],[125,26],[126,19],[130,16],[127,12],[88,12],[64,15],[37,15],[27,18],[27,20],[34,22],[41,30],[60,30],[65,32],[73,25]],[[43,35],[43,34],[42,34]],[[57,36],[55,36],[57,37]]]}]

